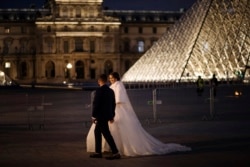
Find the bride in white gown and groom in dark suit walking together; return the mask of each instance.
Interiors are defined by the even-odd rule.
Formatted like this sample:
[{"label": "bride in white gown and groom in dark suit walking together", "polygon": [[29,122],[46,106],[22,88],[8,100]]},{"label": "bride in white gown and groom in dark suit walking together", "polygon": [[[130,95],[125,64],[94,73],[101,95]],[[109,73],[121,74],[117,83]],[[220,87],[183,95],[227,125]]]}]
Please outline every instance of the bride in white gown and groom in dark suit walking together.
[{"label": "bride in white gown and groom in dark suit walking together", "polygon": [[[162,155],[191,148],[163,143],[147,133],[141,126],[128,98],[126,89],[117,72],[98,78],[99,88],[92,103],[92,125],[87,135],[87,152],[94,152],[91,158],[102,158],[104,151],[112,155],[106,159],[120,159],[124,156]],[[105,140],[104,140],[105,139]]]}]

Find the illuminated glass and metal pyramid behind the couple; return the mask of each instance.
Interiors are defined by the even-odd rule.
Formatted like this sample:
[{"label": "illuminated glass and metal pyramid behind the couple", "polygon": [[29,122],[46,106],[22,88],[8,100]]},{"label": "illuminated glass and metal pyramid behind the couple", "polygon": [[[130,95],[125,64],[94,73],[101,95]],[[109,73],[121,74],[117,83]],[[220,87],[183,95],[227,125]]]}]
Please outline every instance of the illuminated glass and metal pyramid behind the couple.
[{"label": "illuminated glass and metal pyramid behind the couple", "polygon": [[198,0],[122,81],[249,79],[249,56],[250,0]]}]

